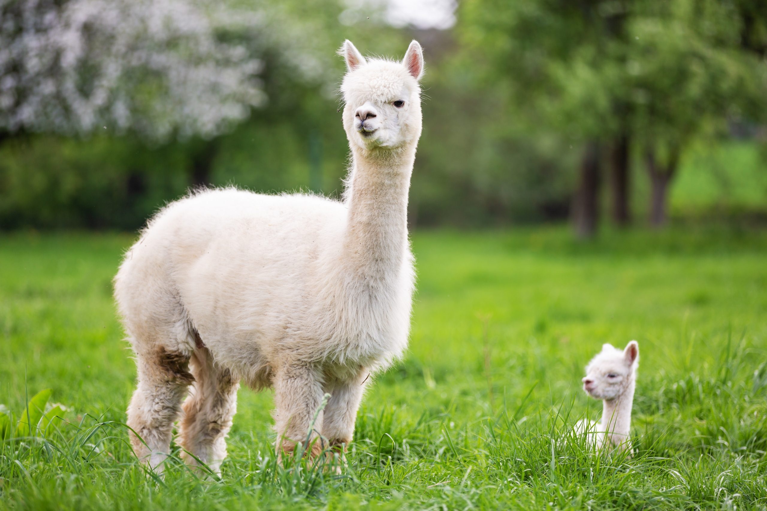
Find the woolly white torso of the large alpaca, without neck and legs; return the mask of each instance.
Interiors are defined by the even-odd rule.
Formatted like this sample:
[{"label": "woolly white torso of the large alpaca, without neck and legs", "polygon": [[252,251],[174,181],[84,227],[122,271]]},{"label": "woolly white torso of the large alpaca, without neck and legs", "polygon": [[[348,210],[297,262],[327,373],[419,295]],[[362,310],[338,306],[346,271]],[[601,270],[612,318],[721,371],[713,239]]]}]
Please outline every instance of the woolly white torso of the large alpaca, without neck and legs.
[{"label": "woolly white torso of the large alpaca, without neck and legs", "polygon": [[386,364],[407,344],[412,256],[403,247],[393,282],[351,278],[341,257],[346,213],[328,198],[235,188],[173,202],[126,254],[115,280],[120,312],[146,317],[153,289],[170,302],[156,323],[181,323],[179,350],[194,348],[186,330],[196,329],[244,378],[286,349],[342,365]]}]

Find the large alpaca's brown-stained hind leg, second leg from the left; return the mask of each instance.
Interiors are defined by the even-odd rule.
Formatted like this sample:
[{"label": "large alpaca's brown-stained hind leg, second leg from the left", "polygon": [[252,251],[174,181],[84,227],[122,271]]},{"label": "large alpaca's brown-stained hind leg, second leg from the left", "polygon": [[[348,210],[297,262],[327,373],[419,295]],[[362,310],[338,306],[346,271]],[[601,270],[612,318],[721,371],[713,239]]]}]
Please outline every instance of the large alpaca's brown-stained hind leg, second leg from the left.
[{"label": "large alpaca's brown-stained hind leg, second leg from the left", "polygon": [[179,444],[186,452],[181,457],[187,464],[198,466],[196,457],[214,473],[221,473],[221,463],[226,457],[226,435],[237,411],[239,382],[229,369],[216,366],[204,347],[192,355],[191,369],[195,382],[183,404]]}]

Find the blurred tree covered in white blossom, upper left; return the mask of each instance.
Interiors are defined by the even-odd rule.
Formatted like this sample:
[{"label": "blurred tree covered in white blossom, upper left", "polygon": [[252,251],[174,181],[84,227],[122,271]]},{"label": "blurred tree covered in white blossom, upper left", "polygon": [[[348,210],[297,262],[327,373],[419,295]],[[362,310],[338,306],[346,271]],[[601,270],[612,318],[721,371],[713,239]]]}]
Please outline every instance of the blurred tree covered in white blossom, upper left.
[{"label": "blurred tree covered in white blossom, upper left", "polygon": [[0,138],[209,138],[264,100],[261,15],[208,0],[0,0]]}]

